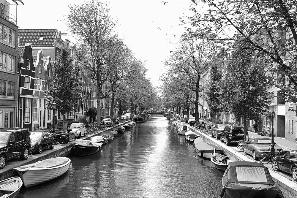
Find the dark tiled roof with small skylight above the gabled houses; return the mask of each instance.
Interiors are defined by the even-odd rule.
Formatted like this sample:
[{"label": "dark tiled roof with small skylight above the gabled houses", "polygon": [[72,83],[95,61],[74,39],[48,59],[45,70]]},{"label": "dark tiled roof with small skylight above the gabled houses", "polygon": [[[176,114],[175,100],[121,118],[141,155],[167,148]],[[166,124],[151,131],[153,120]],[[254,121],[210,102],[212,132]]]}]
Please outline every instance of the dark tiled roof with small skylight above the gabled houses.
[{"label": "dark tiled roof with small skylight above the gabled houses", "polygon": [[[57,29],[19,29],[18,36],[20,37],[20,46],[24,46],[26,43],[31,43],[32,46],[53,47],[55,45],[55,39],[57,39]],[[43,40],[40,41],[40,37],[43,36]]]}]

